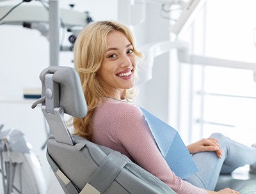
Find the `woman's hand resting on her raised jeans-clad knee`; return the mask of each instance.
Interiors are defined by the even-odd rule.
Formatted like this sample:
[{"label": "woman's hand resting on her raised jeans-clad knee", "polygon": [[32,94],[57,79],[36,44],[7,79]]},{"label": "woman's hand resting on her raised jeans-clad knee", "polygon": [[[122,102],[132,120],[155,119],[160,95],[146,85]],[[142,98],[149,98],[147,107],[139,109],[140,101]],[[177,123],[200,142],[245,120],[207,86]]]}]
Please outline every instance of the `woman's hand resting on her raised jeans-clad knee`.
[{"label": "woman's hand resting on her raised jeans-clad knee", "polygon": [[204,151],[214,151],[218,158],[221,158],[222,155],[222,150],[216,138],[203,138],[202,140],[187,146],[187,148],[189,153],[191,154],[200,153]]}]

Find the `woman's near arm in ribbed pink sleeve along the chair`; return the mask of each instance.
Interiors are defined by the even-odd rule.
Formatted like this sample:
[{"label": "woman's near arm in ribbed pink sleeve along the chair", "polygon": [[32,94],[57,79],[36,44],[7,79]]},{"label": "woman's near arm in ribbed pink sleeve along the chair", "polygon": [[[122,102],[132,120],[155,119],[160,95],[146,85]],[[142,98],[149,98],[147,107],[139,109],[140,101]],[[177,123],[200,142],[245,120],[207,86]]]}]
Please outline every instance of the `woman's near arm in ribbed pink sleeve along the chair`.
[{"label": "woman's near arm in ribbed pink sleeve along the chair", "polygon": [[[119,129],[116,129],[115,132],[113,131],[116,137],[115,141],[125,147],[131,158],[140,167],[156,175],[176,193],[207,193],[205,190],[183,181],[172,172],[161,155],[139,108],[134,106],[119,108],[122,109],[122,113],[117,113],[118,111],[115,109],[115,118],[116,121],[122,121],[122,124],[118,122],[116,126],[113,126],[113,129]],[[120,129],[121,126],[122,130]]]}]

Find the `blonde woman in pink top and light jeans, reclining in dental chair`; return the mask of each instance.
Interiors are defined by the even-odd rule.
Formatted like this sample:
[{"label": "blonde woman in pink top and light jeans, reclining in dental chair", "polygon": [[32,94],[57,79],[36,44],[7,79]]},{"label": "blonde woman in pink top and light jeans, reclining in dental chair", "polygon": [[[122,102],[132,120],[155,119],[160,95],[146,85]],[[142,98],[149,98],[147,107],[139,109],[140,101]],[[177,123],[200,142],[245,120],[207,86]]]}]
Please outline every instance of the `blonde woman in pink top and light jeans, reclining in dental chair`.
[{"label": "blonde woman in pink top and light jeans, reclining in dental chair", "polygon": [[256,163],[256,149],[219,133],[187,147],[198,173],[182,180],[168,167],[143,113],[132,104],[136,94],[136,58],[139,57],[131,31],[118,22],[96,22],[79,34],[74,62],[88,114],[83,119],[74,119],[77,135],[120,151],[176,193],[239,193],[229,188],[212,190],[220,172],[230,173],[237,167]]}]

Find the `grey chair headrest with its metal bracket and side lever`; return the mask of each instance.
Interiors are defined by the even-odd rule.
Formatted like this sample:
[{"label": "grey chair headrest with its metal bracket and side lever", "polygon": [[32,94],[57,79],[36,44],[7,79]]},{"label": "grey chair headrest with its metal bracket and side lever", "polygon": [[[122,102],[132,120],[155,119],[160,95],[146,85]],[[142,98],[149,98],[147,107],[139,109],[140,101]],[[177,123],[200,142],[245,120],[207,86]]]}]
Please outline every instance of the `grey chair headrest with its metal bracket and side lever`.
[{"label": "grey chair headrest with its metal bracket and side lever", "polygon": [[82,118],[87,106],[81,81],[74,68],[49,66],[40,73],[42,97],[33,103],[42,103],[42,111],[57,142],[73,145],[63,114]]}]

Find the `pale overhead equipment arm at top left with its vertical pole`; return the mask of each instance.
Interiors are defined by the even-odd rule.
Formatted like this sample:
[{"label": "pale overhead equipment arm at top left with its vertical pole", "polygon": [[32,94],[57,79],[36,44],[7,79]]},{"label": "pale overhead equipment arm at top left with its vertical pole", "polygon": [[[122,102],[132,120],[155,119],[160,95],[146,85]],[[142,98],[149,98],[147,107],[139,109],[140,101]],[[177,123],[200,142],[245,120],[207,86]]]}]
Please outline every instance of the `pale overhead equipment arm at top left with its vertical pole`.
[{"label": "pale overhead equipment arm at top left with its vertical pole", "polygon": [[[58,65],[60,51],[72,50],[77,34],[84,26],[92,22],[92,17],[88,11],[80,12],[59,8],[56,0],[49,0],[49,6],[30,5],[28,4],[30,2],[32,1],[22,1],[23,4],[17,4],[15,9],[13,6],[1,6],[0,4],[0,24],[21,25],[39,30],[50,43],[50,65]],[[44,1],[38,2],[44,4]],[[60,27],[65,27],[68,32],[72,33],[71,46],[60,45]]]}]

